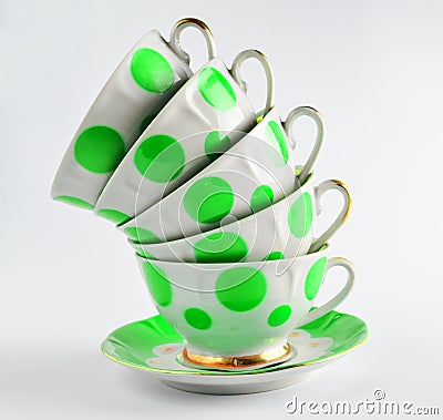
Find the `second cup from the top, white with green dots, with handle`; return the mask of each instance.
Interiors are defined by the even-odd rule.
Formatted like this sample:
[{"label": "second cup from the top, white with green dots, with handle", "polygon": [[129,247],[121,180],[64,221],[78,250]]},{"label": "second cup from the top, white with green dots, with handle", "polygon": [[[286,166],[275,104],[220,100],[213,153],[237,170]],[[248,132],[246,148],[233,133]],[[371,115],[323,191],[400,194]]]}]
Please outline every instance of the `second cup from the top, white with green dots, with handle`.
[{"label": "second cup from the top, white with green dots, with handle", "polygon": [[225,152],[256,124],[238,74],[243,62],[250,58],[265,69],[268,85],[265,112],[269,111],[274,102],[274,76],[261,52],[243,51],[231,70],[219,58],[210,60],[133,145],[103,189],[96,214],[116,224],[127,222],[207,166],[215,152]]}]

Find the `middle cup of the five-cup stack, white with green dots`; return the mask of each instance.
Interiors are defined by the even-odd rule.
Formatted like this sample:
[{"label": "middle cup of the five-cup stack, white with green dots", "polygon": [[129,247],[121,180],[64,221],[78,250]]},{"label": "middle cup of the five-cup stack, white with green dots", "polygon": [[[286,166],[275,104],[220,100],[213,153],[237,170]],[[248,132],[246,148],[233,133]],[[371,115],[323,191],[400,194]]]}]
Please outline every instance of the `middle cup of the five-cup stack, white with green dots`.
[{"label": "middle cup of the five-cup stack, white with green dots", "polygon": [[[312,152],[295,178],[291,129],[307,115],[317,125]],[[292,110],[281,123],[276,109],[213,164],[130,222],[120,226],[136,242],[165,242],[220,226],[229,217],[243,218],[290,194],[306,181],[323,140],[323,122],[309,106]],[[308,165],[308,166],[307,166]]]}]

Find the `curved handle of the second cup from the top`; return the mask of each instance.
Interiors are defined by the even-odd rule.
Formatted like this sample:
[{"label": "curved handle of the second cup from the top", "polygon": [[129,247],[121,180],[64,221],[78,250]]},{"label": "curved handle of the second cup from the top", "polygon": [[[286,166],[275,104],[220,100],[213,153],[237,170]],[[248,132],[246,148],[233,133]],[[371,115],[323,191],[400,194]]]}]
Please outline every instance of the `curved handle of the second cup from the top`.
[{"label": "curved handle of the second cup from the top", "polygon": [[266,115],[269,110],[274,106],[274,71],[270,65],[268,58],[258,50],[246,50],[241,51],[233,61],[233,68],[230,69],[230,74],[239,84],[240,89],[246,93],[248,91],[248,85],[240,78],[239,69],[241,64],[248,59],[256,59],[265,70],[266,74],[266,105],[264,110],[264,115]]}]

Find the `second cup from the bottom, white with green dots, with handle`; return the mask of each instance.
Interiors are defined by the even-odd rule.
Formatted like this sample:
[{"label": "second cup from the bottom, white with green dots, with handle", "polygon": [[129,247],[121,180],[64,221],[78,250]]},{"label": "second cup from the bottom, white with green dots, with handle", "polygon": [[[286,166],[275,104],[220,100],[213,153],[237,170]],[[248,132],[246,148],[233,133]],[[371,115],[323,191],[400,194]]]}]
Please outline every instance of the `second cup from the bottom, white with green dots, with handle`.
[{"label": "second cup from the bottom, white with green dots, with handle", "polygon": [[[321,197],[336,189],[343,197],[340,213],[313,240]],[[142,244],[128,239],[142,257],[167,262],[235,263],[285,259],[318,250],[347,219],[352,205],[348,187],[337,180],[315,186],[312,176],[287,198],[256,214],[178,240]]]}]

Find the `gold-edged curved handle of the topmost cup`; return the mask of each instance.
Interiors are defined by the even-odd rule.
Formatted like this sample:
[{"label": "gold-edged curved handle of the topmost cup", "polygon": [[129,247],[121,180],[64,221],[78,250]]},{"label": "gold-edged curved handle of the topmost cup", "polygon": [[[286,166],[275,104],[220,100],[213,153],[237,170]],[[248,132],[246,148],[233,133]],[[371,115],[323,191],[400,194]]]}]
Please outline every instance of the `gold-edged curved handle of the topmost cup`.
[{"label": "gold-edged curved handle of the topmost cup", "polygon": [[171,31],[171,41],[169,41],[171,49],[178,55],[178,58],[183,62],[189,65],[190,61],[189,54],[182,49],[181,44],[182,32],[184,29],[189,27],[195,28],[203,33],[203,37],[205,38],[206,41],[208,60],[214,59],[217,53],[216,53],[213,32],[205,22],[196,18],[185,18],[175,23],[174,28]]}]

